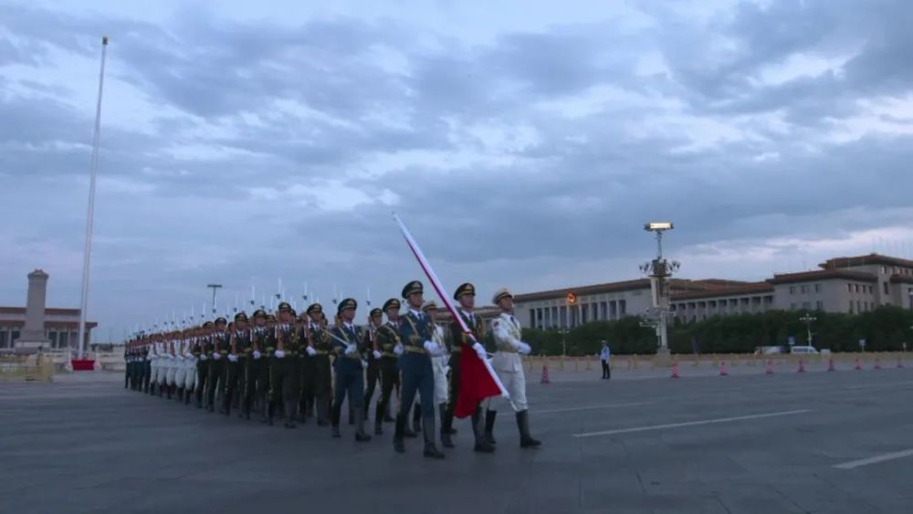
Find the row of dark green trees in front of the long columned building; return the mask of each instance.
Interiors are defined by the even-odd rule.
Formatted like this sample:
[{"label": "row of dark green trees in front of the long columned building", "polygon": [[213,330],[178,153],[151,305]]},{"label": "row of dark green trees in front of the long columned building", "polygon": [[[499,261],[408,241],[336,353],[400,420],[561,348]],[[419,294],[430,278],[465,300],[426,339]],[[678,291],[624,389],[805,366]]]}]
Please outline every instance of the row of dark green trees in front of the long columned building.
[{"label": "row of dark green trees in front of the long columned building", "polygon": [[[761,346],[808,344],[803,311],[770,310],[759,314],[715,316],[707,320],[669,326],[669,349],[673,353],[750,353]],[[818,350],[899,351],[904,342],[913,350],[913,312],[884,306],[861,314],[813,311],[812,344]],[[630,316],[614,321],[593,321],[567,330],[523,329],[534,354],[561,355],[564,346],[572,356],[598,353],[607,341],[614,354],[656,353],[656,330]]]}]

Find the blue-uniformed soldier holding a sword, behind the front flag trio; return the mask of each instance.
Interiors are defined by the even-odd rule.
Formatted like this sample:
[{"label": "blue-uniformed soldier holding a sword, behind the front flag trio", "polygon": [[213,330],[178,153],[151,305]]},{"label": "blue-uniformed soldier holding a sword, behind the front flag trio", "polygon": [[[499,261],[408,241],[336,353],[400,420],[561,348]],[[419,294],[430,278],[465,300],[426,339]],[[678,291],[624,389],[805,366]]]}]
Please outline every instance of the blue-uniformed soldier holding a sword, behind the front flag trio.
[{"label": "blue-uniformed soldier holding a sword, behind the front flag trio", "polygon": [[336,336],[333,342],[336,360],[336,389],[333,397],[332,424],[333,437],[340,435],[340,415],[342,402],[349,397],[349,406],[355,416],[355,440],[370,441],[371,435],[364,433],[364,353],[368,351],[362,330],[355,327],[355,309],[358,303],[351,298],[343,299],[338,308],[339,320],[332,333]]}]

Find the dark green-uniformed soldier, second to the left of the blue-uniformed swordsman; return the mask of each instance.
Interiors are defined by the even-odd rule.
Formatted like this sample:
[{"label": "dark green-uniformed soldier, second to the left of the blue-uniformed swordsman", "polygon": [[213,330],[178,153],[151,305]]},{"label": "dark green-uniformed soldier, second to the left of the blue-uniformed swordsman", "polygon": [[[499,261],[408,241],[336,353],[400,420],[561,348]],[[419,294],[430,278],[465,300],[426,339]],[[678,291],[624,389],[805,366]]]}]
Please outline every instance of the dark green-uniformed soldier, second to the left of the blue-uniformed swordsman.
[{"label": "dark green-uniformed soldier, second to the left of the blue-uniformed swordsman", "polygon": [[[299,332],[295,330],[295,311],[288,302],[278,306],[279,320],[276,326],[276,349],[269,361],[270,402],[278,405],[281,398],[285,414],[285,427],[295,428],[295,411],[298,409],[299,393],[299,358],[301,347]],[[272,410],[274,410],[275,407]],[[272,412],[269,414],[269,425],[272,425]]]}]

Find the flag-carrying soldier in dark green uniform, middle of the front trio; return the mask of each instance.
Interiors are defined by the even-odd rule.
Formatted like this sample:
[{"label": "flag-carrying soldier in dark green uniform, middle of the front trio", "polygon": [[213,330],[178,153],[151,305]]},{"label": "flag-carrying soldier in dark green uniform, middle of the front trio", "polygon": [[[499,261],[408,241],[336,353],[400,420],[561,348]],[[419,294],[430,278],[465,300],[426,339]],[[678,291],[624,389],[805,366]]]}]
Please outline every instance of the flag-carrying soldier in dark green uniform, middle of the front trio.
[{"label": "flag-carrying soldier in dark green uniform, middle of the front trio", "polygon": [[[456,288],[456,292],[454,292],[454,299],[459,302],[459,308],[456,310],[456,314],[463,319],[468,329],[472,331],[472,335],[475,337],[476,341],[483,341],[485,336],[485,323],[473,312],[473,309],[476,307],[476,287],[469,282],[460,284],[460,286]],[[454,408],[459,399],[460,379],[462,376],[459,363],[460,355],[463,351],[473,351],[471,348],[473,345],[472,339],[463,332],[463,329],[457,320],[451,321],[450,334],[454,341],[450,357],[450,398],[447,403],[446,420],[444,422],[446,427],[442,427],[442,438],[444,437],[444,432],[446,431],[449,434],[450,429],[453,427]],[[482,453],[491,453],[495,451],[494,438],[488,437],[487,435],[491,432],[490,428],[494,426],[495,414],[495,411],[490,411],[490,414],[485,418],[485,424],[488,430],[483,430],[482,428],[481,405],[477,406],[476,412],[472,414],[472,433],[475,437],[474,451]],[[447,435],[446,438],[449,439],[449,435]]]}]

